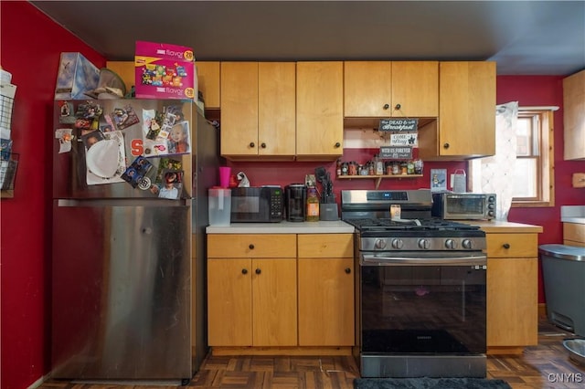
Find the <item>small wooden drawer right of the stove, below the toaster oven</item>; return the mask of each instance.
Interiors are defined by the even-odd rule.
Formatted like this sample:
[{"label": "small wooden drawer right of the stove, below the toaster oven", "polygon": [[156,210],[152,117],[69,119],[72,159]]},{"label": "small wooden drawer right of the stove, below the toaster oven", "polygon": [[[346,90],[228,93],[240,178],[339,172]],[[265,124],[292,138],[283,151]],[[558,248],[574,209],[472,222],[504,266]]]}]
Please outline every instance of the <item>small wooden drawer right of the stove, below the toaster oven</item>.
[{"label": "small wooden drawer right of the stove, below the toaster oven", "polygon": [[487,258],[537,257],[537,234],[487,234]]}]

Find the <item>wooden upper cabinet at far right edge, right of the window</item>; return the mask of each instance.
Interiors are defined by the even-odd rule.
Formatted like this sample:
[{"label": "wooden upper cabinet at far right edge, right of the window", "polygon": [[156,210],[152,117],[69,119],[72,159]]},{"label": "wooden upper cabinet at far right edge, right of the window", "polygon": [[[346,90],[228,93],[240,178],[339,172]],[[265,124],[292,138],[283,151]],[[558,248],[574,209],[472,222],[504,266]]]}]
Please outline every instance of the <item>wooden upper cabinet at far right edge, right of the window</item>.
[{"label": "wooden upper cabinet at far right edge, right of the window", "polygon": [[585,159],[585,70],[563,79],[565,160]]}]

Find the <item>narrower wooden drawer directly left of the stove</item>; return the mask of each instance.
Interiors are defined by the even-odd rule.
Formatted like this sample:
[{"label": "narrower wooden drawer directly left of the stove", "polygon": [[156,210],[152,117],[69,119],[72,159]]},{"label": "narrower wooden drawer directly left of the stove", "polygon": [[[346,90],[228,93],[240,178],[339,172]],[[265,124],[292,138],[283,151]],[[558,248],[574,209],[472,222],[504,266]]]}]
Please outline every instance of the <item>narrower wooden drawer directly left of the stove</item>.
[{"label": "narrower wooden drawer directly left of the stove", "polygon": [[299,258],[353,258],[353,234],[301,234]]}]

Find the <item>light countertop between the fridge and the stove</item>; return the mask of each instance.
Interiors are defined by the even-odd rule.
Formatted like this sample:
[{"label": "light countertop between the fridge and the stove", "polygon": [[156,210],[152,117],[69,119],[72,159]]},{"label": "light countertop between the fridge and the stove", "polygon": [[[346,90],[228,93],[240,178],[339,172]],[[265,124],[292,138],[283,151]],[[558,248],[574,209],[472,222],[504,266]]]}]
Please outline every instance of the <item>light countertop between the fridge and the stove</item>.
[{"label": "light countertop between the fridge and the stove", "polygon": [[207,226],[207,234],[352,234],[354,226],[341,220],[325,222],[231,223]]}]

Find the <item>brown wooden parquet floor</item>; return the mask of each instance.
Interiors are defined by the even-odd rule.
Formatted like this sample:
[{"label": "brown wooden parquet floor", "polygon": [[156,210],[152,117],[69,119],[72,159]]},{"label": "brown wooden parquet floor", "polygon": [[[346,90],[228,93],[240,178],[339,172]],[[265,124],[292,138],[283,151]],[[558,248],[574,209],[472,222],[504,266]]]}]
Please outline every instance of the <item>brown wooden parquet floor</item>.
[{"label": "brown wooden parquet floor", "polygon": [[[562,345],[573,337],[541,318],[538,345],[521,355],[490,355],[487,378],[503,379],[513,389],[582,389],[585,367],[572,363]],[[267,357],[208,355],[186,388],[352,389],[359,376],[353,357]],[[50,380],[41,389],[170,389],[177,385],[80,384]]]}]

